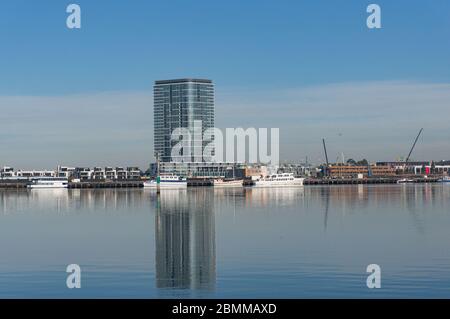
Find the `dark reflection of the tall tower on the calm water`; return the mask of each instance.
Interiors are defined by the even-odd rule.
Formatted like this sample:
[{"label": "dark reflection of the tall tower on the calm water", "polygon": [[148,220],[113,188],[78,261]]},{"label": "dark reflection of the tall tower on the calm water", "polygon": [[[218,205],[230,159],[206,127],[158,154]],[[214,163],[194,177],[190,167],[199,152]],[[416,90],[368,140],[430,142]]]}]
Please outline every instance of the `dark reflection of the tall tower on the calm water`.
[{"label": "dark reflection of the tall tower on the calm water", "polygon": [[208,190],[164,190],[155,241],[158,288],[213,289],[216,281],[214,197]]}]

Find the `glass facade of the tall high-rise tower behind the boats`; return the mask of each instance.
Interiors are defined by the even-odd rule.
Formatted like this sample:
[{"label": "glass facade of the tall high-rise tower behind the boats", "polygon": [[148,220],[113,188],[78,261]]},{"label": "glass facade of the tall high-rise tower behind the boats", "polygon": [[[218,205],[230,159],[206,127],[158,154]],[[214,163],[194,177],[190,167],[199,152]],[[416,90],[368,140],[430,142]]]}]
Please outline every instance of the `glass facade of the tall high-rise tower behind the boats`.
[{"label": "glass facade of the tall high-rise tower behind the boats", "polygon": [[[172,147],[178,143],[171,141],[171,134],[176,128],[187,128],[193,136],[194,121],[201,121],[202,133],[214,127],[214,85],[211,80],[155,81],[153,99],[154,151],[161,162],[177,161],[171,158]],[[197,144],[193,139],[191,143],[194,154],[194,145]],[[202,150],[208,143],[201,143]],[[191,161],[194,161],[193,158]]]}]

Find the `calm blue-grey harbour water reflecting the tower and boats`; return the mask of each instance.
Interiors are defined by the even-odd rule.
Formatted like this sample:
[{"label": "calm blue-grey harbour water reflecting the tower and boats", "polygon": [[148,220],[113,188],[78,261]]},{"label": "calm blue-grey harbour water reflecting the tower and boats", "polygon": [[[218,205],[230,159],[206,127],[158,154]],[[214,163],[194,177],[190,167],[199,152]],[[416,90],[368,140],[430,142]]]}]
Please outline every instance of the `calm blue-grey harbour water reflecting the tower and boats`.
[{"label": "calm blue-grey harbour water reflecting the tower and boats", "polygon": [[450,185],[0,191],[0,297],[449,298],[449,248]]}]

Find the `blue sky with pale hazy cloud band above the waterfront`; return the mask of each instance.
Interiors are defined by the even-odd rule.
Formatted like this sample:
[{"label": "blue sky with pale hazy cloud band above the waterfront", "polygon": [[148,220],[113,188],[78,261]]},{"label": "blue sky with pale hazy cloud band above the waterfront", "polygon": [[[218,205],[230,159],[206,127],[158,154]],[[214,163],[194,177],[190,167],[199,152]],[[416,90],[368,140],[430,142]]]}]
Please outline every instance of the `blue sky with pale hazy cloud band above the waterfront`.
[{"label": "blue sky with pale hazy cloud band above the waterfront", "polygon": [[153,82],[179,77],[214,81],[219,127],[279,127],[286,160],[323,160],[322,137],[393,160],[420,127],[413,157],[450,158],[447,0],[3,0],[0,165],[144,168]]}]

